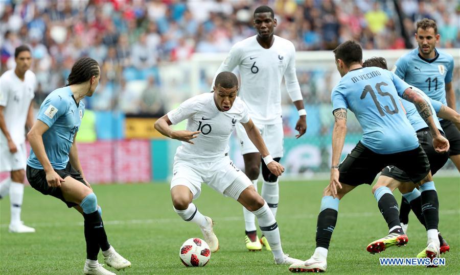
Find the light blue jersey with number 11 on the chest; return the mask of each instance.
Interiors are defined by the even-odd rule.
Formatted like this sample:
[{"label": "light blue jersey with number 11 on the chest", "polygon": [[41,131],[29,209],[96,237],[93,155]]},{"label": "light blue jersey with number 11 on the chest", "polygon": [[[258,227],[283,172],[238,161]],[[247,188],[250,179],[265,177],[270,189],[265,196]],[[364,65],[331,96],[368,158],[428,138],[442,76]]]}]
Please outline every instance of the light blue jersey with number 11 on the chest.
[{"label": "light blue jersey with number 11 on the chest", "polygon": [[430,98],[447,105],[446,83],[452,81],[454,61],[451,55],[438,49],[435,51],[436,57],[427,60],[419,54],[418,48],[412,49],[396,61],[393,71],[408,84],[424,91]]}]

